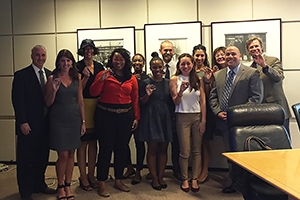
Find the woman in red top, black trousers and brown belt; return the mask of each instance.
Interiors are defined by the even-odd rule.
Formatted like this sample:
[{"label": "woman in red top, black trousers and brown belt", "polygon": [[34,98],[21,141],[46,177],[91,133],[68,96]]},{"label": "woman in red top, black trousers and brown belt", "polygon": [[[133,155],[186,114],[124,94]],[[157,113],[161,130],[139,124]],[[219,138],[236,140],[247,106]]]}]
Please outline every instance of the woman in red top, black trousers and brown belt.
[{"label": "woman in red top, black trousers and brown belt", "polygon": [[130,189],[121,181],[128,153],[131,131],[140,119],[138,82],[131,73],[130,53],[124,48],[115,49],[107,63],[109,70],[97,74],[90,87],[93,96],[100,95],[95,111],[95,131],[99,136],[97,179],[98,194],[108,197],[105,186],[111,154],[114,152],[114,187],[124,192]]}]

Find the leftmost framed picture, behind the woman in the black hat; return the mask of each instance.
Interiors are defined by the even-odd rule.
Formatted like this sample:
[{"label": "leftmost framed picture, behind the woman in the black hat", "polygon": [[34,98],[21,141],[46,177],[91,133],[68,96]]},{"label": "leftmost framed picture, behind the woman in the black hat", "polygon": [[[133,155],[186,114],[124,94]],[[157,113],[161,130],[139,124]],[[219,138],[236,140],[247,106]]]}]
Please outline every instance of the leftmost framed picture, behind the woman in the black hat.
[{"label": "leftmost framed picture, behind the woman in the black hat", "polygon": [[[123,47],[130,52],[132,57],[135,54],[135,27],[115,27],[100,29],[77,29],[77,47],[80,48],[81,41],[92,39],[99,55],[94,56],[94,60],[106,66],[111,52],[118,47]],[[83,57],[79,56],[78,60]]]}]

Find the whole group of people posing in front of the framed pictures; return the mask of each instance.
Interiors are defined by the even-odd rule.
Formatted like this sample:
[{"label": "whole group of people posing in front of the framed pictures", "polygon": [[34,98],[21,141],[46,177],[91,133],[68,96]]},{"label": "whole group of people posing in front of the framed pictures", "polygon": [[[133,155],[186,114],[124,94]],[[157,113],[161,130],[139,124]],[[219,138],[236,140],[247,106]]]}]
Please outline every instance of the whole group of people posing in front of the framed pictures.
[{"label": "whole group of people posing in front of the framed pictures", "polygon": [[[282,65],[278,58],[265,55],[260,38],[249,38],[246,44],[253,57],[250,67],[240,62],[235,46],[216,48],[212,66],[201,44],[174,62],[172,42],[163,41],[159,53],[151,54],[148,75],[143,71],[144,56],[131,58],[124,48],[113,50],[104,68],[93,60],[99,49],[90,39],[82,41],[77,53],[83,59],[77,63],[69,50],[61,50],[53,72],[44,67],[45,47],[33,47],[32,64],[15,73],[12,87],[21,199],[31,200],[36,192],[56,193],[59,200],[75,199],[70,183],[76,150],[83,190],[98,188],[100,196],[110,196],[105,181],[114,153],[114,187],[129,192],[122,179],[133,176],[133,185],[141,182],[145,142],[146,178],[151,179],[153,189],[167,188],[164,172],[171,143],[172,169],[181,181],[180,189],[198,192],[199,183],[208,179],[209,141],[214,134],[223,136],[225,150],[230,151],[226,111],[234,105],[278,103],[285,109],[289,132]],[[132,135],[136,169],[128,145]],[[57,190],[45,184],[49,149],[58,156]],[[232,183],[222,192],[235,192]]]}]

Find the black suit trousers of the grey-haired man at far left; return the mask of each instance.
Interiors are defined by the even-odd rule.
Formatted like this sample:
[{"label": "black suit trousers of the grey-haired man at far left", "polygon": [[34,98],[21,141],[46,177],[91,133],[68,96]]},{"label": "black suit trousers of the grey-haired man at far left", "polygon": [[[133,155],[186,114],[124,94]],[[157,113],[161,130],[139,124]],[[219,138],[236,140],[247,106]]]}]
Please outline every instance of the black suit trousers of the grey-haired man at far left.
[{"label": "black suit trousers of the grey-haired man at far left", "polygon": [[21,198],[47,187],[45,171],[49,159],[47,130],[17,136],[17,182]]}]

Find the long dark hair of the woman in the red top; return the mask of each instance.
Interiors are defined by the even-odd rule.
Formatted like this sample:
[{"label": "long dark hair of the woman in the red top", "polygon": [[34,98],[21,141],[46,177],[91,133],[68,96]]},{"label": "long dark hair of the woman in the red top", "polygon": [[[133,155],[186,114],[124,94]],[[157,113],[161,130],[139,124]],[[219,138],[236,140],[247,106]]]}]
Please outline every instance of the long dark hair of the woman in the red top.
[{"label": "long dark hair of the woman in the red top", "polygon": [[132,62],[130,59],[130,52],[127,49],[124,49],[124,48],[114,49],[109,56],[106,67],[109,67],[111,69],[114,68],[113,64],[112,64],[112,60],[113,60],[115,53],[121,54],[121,56],[125,59],[125,66],[123,68],[123,76],[124,76],[125,80],[129,80],[132,75],[132,72],[131,72]]}]

